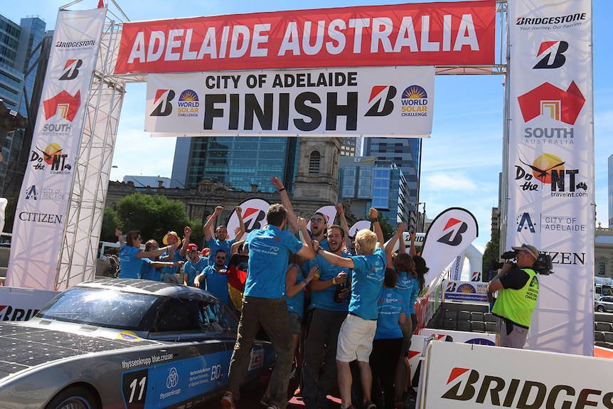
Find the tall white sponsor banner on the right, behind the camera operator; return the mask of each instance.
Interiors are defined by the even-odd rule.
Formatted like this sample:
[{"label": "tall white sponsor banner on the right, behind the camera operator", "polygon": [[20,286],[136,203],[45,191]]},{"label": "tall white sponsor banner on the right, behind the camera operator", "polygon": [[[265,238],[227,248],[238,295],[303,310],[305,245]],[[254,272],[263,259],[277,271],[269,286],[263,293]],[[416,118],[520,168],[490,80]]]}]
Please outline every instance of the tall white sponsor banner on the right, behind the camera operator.
[{"label": "tall white sponsor banner on the right, behind the camera operator", "polygon": [[592,1],[517,0],[508,7],[505,250],[535,245],[551,256],[555,270],[553,275],[538,275],[527,348],[591,356]]}]

